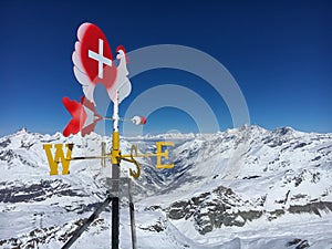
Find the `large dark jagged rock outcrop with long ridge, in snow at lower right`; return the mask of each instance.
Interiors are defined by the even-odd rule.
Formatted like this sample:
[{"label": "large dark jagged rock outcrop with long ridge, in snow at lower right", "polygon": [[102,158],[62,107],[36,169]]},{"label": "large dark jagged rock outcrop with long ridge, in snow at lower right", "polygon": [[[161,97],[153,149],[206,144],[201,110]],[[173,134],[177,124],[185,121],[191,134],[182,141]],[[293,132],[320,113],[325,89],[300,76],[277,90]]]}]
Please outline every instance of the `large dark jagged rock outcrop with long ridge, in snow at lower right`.
[{"label": "large dark jagged rock outcrop with long ridge, in snow at lower right", "polygon": [[[246,207],[246,209],[241,209]],[[315,214],[321,216],[322,211],[332,211],[332,203],[317,201],[307,205],[290,205],[288,209],[262,211],[243,201],[230,188],[219,186],[212,191],[204,193],[189,200],[173,203],[166,212],[174,220],[193,220],[195,229],[200,235],[206,235],[221,226],[242,227],[247,221],[259,219],[264,215],[271,221],[286,214]]]}]

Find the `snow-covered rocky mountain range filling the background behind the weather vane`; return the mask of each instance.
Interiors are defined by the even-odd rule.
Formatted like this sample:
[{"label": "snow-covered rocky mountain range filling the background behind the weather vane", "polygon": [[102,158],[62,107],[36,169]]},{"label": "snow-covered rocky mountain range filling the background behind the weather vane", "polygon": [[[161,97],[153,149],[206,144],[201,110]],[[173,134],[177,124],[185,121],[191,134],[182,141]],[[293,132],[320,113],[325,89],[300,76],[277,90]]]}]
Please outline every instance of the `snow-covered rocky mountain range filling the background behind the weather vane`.
[{"label": "snow-covered rocky mountain range filling the background behind the weather vane", "polygon": [[[134,180],[138,248],[332,248],[332,134],[243,126],[216,134],[121,139],[154,152],[172,141],[173,169],[141,158]],[[74,143],[72,156],[101,154],[91,134],[63,137],[21,129],[0,138],[0,248],[60,248],[104,200],[111,166],[74,160],[70,175],[49,176],[46,143]],[[122,176],[132,165],[122,163]],[[127,187],[121,248],[131,248]],[[111,210],[73,245],[110,248]]]}]

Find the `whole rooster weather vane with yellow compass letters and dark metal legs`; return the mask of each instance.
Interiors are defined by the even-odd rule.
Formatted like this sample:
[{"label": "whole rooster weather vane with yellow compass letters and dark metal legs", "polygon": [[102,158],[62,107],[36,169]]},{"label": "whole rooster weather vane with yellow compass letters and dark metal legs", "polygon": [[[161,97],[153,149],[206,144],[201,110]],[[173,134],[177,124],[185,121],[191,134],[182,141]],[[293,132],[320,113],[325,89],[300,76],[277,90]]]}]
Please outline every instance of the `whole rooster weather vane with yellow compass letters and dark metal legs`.
[{"label": "whole rooster weather vane with yellow compass letters and dark metal legs", "polygon": [[[134,116],[132,118],[123,118],[118,115],[118,105],[121,102],[131,94],[132,84],[128,79],[126,50],[124,46],[118,45],[116,49],[116,62],[113,60],[112,51],[106,37],[102,30],[92,23],[83,23],[77,30],[77,39],[75,43],[75,50],[72,54],[72,61],[74,63],[74,74],[83,89],[84,96],[81,102],[72,101],[69,97],[63,97],[62,102],[65,108],[72,115],[72,120],[69,122],[63,131],[64,136],[71,134],[77,134],[81,132],[82,136],[85,136],[94,131],[96,124],[103,120],[113,121],[113,134],[112,134],[112,151],[106,153],[105,143],[102,143],[101,156],[79,156],[72,157],[72,151],[74,144],[44,144],[48,162],[50,165],[50,175],[58,175],[59,163],[62,164],[62,174],[70,174],[70,162],[77,159],[102,159],[102,165],[105,166],[106,159],[112,163],[112,191],[107,191],[107,198],[97,208],[93,215],[84,222],[72,236],[72,238],[62,247],[70,248],[71,245],[80,237],[80,235],[86,229],[86,227],[98,216],[101,211],[112,200],[112,249],[118,248],[118,209],[120,197],[112,195],[112,193],[118,193],[120,190],[120,168],[121,162],[127,160],[133,163],[135,169],[129,168],[129,176],[138,178],[141,175],[139,164],[135,158],[137,157],[156,157],[156,168],[173,168],[174,164],[162,164],[163,158],[168,159],[168,149],[166,146],[174,146],[172,142],[156,142],[156,153],[153,154],[137,154],[137,146],[133,145],[129,155],[122,155],[120,149],[120,132],[118,122],[133,122],[135,125],[144,125],[146,118],[143,116]],[[117,64],[117,65],[116,65]],[[108,97],[113,102],[113,116],[106,117],[97,113],[94,101],[94,89],[97,84],[105,86]],[[54,155],[52,148],[55,147]],[[66,154],[64,155],[64,149]],[[131,210],[131,224],[132,224],[132,243],[133,248],[136,248],[136,235],[134,226],[134,205],[131,194],[131,178],[127,177],[128,195],[129,195],[129,210]]]}]

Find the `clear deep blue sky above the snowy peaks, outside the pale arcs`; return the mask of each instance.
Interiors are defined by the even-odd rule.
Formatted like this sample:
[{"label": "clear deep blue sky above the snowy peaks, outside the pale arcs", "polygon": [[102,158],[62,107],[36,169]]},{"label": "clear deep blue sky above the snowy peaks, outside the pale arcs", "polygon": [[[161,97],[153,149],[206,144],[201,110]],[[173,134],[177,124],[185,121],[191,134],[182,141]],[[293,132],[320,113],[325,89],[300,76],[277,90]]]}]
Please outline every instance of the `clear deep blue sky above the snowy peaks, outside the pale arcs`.
[{"label": "clear deep blue sky above the snowy peaks, outside the pale arcs", "polygon": [[[62,131],[70,115],[62,97],[83,94],[72,72],[76,30],[98,25],[113,52],[181,44],[222,63],[239,84],[251,124],[332,132],[331,1],[0,1],[0,135],[22,126]],[[131,64],[128,70],[131,71]],[[154,70],[132,79],[133,92],[176,83],[218,111],[220,129],[230,114],[214,89],[186,72]],[[142,113],[144,115],[144,113]],[[156,110],[145,133],[197,132],[185,111]]]}]

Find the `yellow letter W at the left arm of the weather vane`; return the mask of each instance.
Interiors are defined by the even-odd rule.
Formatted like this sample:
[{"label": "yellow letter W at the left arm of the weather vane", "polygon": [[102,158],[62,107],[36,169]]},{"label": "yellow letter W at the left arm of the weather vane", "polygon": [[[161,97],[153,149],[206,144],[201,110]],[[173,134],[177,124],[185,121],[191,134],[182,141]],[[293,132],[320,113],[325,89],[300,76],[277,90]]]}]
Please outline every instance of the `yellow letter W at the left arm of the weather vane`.
[{"label": "yellow letter W at the left arm of the weather vane", "polygon": [[51,148],[53,147],[52,144],[44,144],[43,149],[46,153],[46,157],[50,165],[50,175],[58,175],[58,164],[61,162],[62,164],[62,175],[68,175],[69,172],[69,165],[71,162],[72,156],[72,149],[74,144],[65,144],[66,151],[66,157],[64,157],[64,153],[62,149],[62,144],[55,144],[55,156],[53,157]]}]

